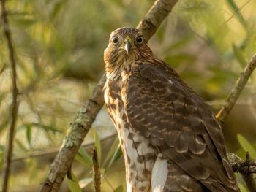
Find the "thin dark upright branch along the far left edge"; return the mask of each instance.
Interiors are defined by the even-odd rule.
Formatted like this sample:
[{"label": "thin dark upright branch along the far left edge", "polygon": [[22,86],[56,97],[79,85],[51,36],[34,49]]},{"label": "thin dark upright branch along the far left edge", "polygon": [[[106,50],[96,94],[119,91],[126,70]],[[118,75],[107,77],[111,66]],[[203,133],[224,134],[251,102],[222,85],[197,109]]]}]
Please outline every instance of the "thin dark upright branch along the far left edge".
[{"label": "thin dark upright branch along the far left edge", "polygon": [[7,39],[7,47],[9,49],[9,58],[11,64],[11,74],[12,74],[12,106],[11,106],[11,116],[10,116],[10,128],[7,137],[7,145],[5,147],[4,153],[4,168],[3,168],[3,184],[2,191],[7,191],[8,181],[10,176],[10,166],[12,158],[12,143],[15,135],[15,123],[17,120],[18,112],[18,88],[17,88],[17,72],[16,72],[16,62],[15,62],[15,51],[12,45],[12,36],[10,33],[10,26],[7,19],[7,10],[5,8],[5,0],[1,0],[1,22],[4,29],[4,35]]}]

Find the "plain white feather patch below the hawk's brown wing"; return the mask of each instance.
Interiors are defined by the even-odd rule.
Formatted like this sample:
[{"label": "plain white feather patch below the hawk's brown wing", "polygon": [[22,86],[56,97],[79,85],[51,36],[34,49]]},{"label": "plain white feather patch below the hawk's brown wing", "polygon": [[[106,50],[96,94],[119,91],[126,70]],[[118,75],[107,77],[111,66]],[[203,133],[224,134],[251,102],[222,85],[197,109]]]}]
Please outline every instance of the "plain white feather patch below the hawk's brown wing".
[{"label": "plain white feather patch below the hawk's brown wing", "polygon": [[158,157],[152,170],[151,183],[153,192],[164,191],[167,174],[167,160]]}]

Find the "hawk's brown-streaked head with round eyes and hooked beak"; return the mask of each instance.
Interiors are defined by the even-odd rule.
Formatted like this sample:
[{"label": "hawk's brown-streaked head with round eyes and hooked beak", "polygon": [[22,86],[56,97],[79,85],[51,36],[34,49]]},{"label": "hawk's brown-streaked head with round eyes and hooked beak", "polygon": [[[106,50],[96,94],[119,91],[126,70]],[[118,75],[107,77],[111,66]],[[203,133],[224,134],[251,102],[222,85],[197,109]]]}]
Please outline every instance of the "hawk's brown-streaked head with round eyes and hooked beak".
[{"label": "hawk's brown-streaked head with round eyes and hooked beak", "polygon": [[104,61],[108,67],[131,63],[151,56],[141,31],[135,28],[118,28],[110,34],[108,47],[104,51]]}]

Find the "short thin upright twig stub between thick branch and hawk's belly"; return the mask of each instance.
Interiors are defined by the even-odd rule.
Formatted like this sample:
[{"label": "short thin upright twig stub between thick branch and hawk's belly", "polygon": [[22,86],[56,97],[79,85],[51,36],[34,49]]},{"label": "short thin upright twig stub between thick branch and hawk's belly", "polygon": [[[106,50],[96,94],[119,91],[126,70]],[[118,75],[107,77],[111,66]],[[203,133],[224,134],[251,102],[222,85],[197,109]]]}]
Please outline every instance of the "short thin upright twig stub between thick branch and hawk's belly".
[{"label": "short thin upright twig stub between thick branch and hawk's belly", "polygon": [[93,169],[94,169],[94,191],[100,192],[100,183],[101,183],[101,177],[100,177],[100,169],[99,169],[99,161],[98,161],[98,155],[96,147],[92,149],[92,162],[93,162]]}]

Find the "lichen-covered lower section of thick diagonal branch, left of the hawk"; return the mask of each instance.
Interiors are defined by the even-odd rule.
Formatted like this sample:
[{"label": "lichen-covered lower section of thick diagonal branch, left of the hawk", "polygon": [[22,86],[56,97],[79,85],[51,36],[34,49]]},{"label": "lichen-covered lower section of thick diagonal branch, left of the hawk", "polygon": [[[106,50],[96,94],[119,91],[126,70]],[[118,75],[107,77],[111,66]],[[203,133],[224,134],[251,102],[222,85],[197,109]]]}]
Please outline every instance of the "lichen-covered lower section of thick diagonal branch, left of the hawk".
[{"label": "lichen-covered lower section of thick diagonal branch, left of the hawk", "polygon": [[103,75],[99,80],[84,107],[78,110],[78,114],[70,125],[61,149],[56,155],[53,164],[50,166],[50,172],[42,186],[41,191],[59,190],[59,186],[69,171],[69,167],[71,167],[84,137],[86,137],[86,134],[91,128],[91,124],[94,122],[95,117],[104,104],[102,93],[104,84],[105,75]]}]

